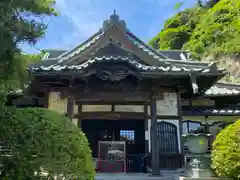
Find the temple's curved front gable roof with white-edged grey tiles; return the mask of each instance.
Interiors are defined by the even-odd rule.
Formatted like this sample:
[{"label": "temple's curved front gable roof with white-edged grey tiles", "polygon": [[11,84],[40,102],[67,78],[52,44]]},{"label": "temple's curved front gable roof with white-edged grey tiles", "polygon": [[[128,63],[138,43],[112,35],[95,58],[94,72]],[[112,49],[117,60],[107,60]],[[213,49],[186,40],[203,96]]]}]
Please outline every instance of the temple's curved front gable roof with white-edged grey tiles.
[{"label": "temple's curved front gable roof with white-edged grey tiles", "polygon": [[131,33],[125,21],[120,20],[115,12],[88,40],[58,56],[55,61],[51,61],[52,64],[39,63],[37,66],[31,66],[29,70],[32,72],[82,71],[102,60],[125,61],[140,71],[151,73],[185,72],[186,75],[212,71],[223,73],[223,70],[218,71],[214,64],[209,66],[199,62],[169,59],[164,53],[154,50]]}]

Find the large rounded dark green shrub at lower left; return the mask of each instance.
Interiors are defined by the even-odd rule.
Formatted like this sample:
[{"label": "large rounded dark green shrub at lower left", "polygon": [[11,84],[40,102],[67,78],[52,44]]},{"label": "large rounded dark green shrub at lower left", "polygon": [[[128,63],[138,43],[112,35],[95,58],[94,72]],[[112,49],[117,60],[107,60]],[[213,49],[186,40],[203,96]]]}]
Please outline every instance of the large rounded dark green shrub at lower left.
[{"label": "large rounded dark green shrub at lower left", "polygon": [[[0,137],[3,146],[10,149],[10,156],[1,156],[0,179],[94,179],[84,133],[55,112],[8,109],[1,120]],[[42,171],[47,172],[47,177],[43,177]]]}]

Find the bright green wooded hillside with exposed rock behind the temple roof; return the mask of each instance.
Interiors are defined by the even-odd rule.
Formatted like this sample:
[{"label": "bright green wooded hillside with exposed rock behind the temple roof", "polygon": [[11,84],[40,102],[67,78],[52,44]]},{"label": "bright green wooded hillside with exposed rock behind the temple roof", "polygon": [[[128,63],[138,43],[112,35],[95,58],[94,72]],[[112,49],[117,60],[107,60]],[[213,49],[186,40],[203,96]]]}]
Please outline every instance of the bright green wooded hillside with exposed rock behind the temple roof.
[{"label": "bright green wooded hillside with exposed rock behind the temple roof", "polygon": [[240,1],[198,1],[165,21],[150,45],[189,50],[193,59],[217,61],[230,72],[225,80],[240,83]]}]

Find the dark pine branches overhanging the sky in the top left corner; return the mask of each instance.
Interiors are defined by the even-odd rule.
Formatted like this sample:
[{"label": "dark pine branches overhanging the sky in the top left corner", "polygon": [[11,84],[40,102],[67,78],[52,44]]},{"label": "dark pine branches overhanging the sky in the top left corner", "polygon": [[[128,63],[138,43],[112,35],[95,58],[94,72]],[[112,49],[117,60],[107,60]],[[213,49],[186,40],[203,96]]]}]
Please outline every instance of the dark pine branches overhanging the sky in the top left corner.
[{"label": "dark pine branches overhanging the sky in the top left corner", "polygon": [[3,0],[0,2],[1,51],[12,50],[20,42],[35,43],[44,35],[44,16],[54,15],[54,0]]}]

